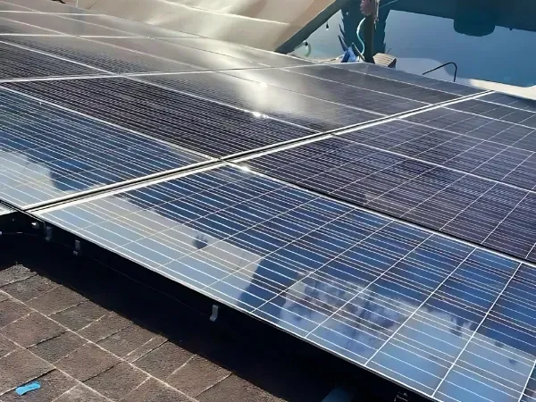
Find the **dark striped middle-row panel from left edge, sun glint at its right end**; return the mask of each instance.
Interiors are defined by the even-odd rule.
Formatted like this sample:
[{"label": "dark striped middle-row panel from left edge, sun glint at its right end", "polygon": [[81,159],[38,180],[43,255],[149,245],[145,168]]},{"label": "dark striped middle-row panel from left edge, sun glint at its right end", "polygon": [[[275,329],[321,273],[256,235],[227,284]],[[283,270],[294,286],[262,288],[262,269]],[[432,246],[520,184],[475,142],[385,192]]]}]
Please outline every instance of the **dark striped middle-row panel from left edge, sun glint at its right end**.
[{"label": "dark striped middle-row panel from left edge, sun glint at its right end", "polygon": [[314,132],[134,80],[10,82],[4,86],[211,156],[250,151]]}]

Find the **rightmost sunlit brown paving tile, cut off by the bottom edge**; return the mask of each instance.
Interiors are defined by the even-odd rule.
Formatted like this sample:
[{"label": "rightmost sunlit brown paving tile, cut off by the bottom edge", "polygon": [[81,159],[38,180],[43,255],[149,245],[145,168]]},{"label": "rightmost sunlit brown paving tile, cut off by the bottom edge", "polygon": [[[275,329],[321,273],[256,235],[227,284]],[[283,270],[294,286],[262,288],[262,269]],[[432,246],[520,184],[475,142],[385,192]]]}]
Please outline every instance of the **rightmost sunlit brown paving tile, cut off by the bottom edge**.
[{"label": "rightmost sunlit brown paving tile, cut off by the bottom edge", "polygon": [[251,382],[232,374],[218,382],[211,389],[205,390],[197,399],[200,402],[280,402],[283,399],[274,397],[264,389],[255,387]]}]

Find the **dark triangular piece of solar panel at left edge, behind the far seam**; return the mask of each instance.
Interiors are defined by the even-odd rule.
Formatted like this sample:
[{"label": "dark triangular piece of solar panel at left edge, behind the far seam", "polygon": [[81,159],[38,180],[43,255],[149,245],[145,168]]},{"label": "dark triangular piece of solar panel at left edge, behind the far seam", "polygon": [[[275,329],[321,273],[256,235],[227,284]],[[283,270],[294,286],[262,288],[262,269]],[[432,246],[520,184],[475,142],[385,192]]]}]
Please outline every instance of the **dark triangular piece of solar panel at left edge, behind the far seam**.
[{"label": "dark triangular piece of solar panel at left edge, behind the far seam", "polygon": [[0,42],[0,79],[21,79],[36,77],[95,75],[102,72],[80,64],[29,51],[18,46]]}]

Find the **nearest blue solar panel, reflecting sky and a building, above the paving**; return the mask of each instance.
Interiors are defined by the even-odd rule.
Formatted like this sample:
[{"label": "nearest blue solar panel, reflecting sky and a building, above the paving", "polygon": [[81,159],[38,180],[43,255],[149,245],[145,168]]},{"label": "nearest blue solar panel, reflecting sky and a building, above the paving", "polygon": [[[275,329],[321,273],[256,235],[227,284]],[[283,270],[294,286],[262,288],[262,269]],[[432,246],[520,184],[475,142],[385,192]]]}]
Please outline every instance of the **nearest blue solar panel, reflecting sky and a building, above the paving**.
[{"label": "nearest blue solar panel, reflecting sky and a building, above the paving", "polygon": [[534,268],[222,167],[38,213],[440,400],[515,401]]}]

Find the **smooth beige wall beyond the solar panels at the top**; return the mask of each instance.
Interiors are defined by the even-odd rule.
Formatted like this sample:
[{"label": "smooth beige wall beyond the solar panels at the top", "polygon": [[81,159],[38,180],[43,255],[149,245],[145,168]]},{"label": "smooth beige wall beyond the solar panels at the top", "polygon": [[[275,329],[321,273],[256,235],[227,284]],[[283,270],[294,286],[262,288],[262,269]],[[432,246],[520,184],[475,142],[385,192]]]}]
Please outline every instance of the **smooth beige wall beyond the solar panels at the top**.
[{"label": "smooth beige wall beyond the solar panels at the top", "polygon": [[[79,6],[166,29],[274,50],[335,0],[79,0]],[[76,0],[66,3],[75,4]]]}]

